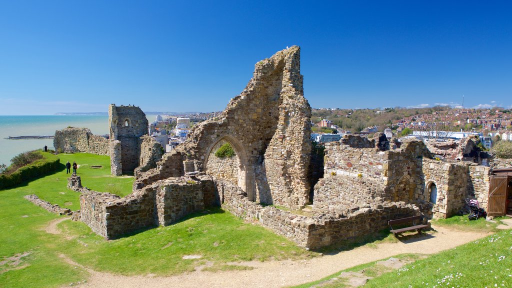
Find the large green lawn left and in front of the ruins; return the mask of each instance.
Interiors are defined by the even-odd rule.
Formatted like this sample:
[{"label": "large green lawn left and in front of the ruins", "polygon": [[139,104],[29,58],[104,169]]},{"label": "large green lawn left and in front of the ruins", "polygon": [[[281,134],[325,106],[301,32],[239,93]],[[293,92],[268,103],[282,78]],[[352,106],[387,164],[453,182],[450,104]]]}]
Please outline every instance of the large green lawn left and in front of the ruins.
[{"label": "large green lawn left and in front of the ruins", "polygon": [[[82,184],[90,189],[129,194],[133,177],[110,176],[108,156],[60,154],[60,162],[76,161]],[[101,165],[101,169],[91,166]],[[60,287],[87,280],[88,273],[67,264],[59,254],[95,270],[135,275],[172,275],[191,271],[206,261],[210,271],[247,269],[226,262],[306,258],[317,254],[297,248],[271,231],[244,223],[222,209],[195,214],[169,227],[150,229],[130,237],[106,241],[82,222],[58,224],[62,235],[44,231],[61,216],[37,207],[23,197],[79,209],[79,193],[66,188],[66,170],[0,191],[0,287]],[[68,236],[68,237],[65,237]],[[184,260],[184,255],[201,259]]]}]

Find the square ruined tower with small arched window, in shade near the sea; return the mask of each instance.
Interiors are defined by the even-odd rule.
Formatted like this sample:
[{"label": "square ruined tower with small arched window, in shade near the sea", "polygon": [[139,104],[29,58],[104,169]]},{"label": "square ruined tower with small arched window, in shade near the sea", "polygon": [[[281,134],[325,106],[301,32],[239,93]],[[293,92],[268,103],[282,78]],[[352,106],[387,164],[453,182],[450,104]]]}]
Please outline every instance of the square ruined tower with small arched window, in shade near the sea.
[{"label": "square ruined tower with small arched window, in shade near the sea", "polygon": [[121,164],[113,166],[121,167],[122,173],[132,173],[139,166],[139,137],[148,133],[146,115],[139,107],[111,104],[109,124],[110,139],[121,142]]}]

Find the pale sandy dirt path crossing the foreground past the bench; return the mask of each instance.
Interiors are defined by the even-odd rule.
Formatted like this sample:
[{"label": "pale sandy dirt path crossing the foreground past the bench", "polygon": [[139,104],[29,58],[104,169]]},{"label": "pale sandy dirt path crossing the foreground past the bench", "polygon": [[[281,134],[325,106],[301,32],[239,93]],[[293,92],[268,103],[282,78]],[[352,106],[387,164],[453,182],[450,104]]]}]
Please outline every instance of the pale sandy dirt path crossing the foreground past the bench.
[{"label": "pale sandy dirt path crossing the foreground past the bench", "polygon": [[[86,283],[78,287],[281,287],[297,285],[321,279],[325,276],[355,265],[372,262],[402,253],[433,254],[474,241],[487,234],[480,232],[452,231],[435,228],[438,232],[432,236],[415,238],[398,243],[378,244],[377,248],[362,246],[335,255],[316,257],[302,261],[247,262],[253,270],[226,272],[193,272],[170,277],[122,276],[96,272]],[[81,266],[66,260],[70,264]]]}]

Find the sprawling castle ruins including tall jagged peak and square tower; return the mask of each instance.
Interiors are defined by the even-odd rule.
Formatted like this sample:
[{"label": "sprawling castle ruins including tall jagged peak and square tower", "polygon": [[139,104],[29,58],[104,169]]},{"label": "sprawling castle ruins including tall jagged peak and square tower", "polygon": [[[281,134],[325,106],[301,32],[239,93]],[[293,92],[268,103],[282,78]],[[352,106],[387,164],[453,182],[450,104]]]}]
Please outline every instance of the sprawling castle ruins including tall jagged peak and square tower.
[{"label": "sprawling castle ruins including tall jagged peak and square tower", "polygon": [[[242,93],[197,125],[156,168],[140,166],[146,163],[140,139],[147,122],[138,121],[139,110],[109,110],[113,174],[135,169],[133,193],[121,198],[70,179],[70,187],[82,193],[81,221],[106,239],[222,206],[317,249],[376,233],[391,219],[452,215],[470,194],[485,203],[489,168],[438,161],[420,141],[400,146],[394,139],[351,135],[326,145],[323,166],[310,163],[311,108],[296,46],[259,61]],[[232,153],[218,153],[223,149]],[[324,170],[313,189],[311,167]],[[308,212],[294,213],[311,201]]]}]

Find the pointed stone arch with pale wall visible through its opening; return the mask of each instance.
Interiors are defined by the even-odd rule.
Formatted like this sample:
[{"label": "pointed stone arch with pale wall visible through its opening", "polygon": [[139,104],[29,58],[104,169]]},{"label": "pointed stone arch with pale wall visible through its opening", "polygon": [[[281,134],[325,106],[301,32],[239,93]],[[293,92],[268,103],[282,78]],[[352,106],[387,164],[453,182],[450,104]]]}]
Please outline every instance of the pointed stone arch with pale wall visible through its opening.
[{"label": "pointed stone arch with pale wall visible through its opening", "polygon": [[[235,158],[228,159],[227,163],[214,160],[212,157],[216,158],[215,151],[226,142],[233,148],[236,154]],[[247,197],[251,201],[255,201],[254,169],[249,164],[248,155],[242,143],[231,135],[221,135],[211,142],[206,151],[203,162],[204,171],[211,176],[239,186],[247,193]]]}]

